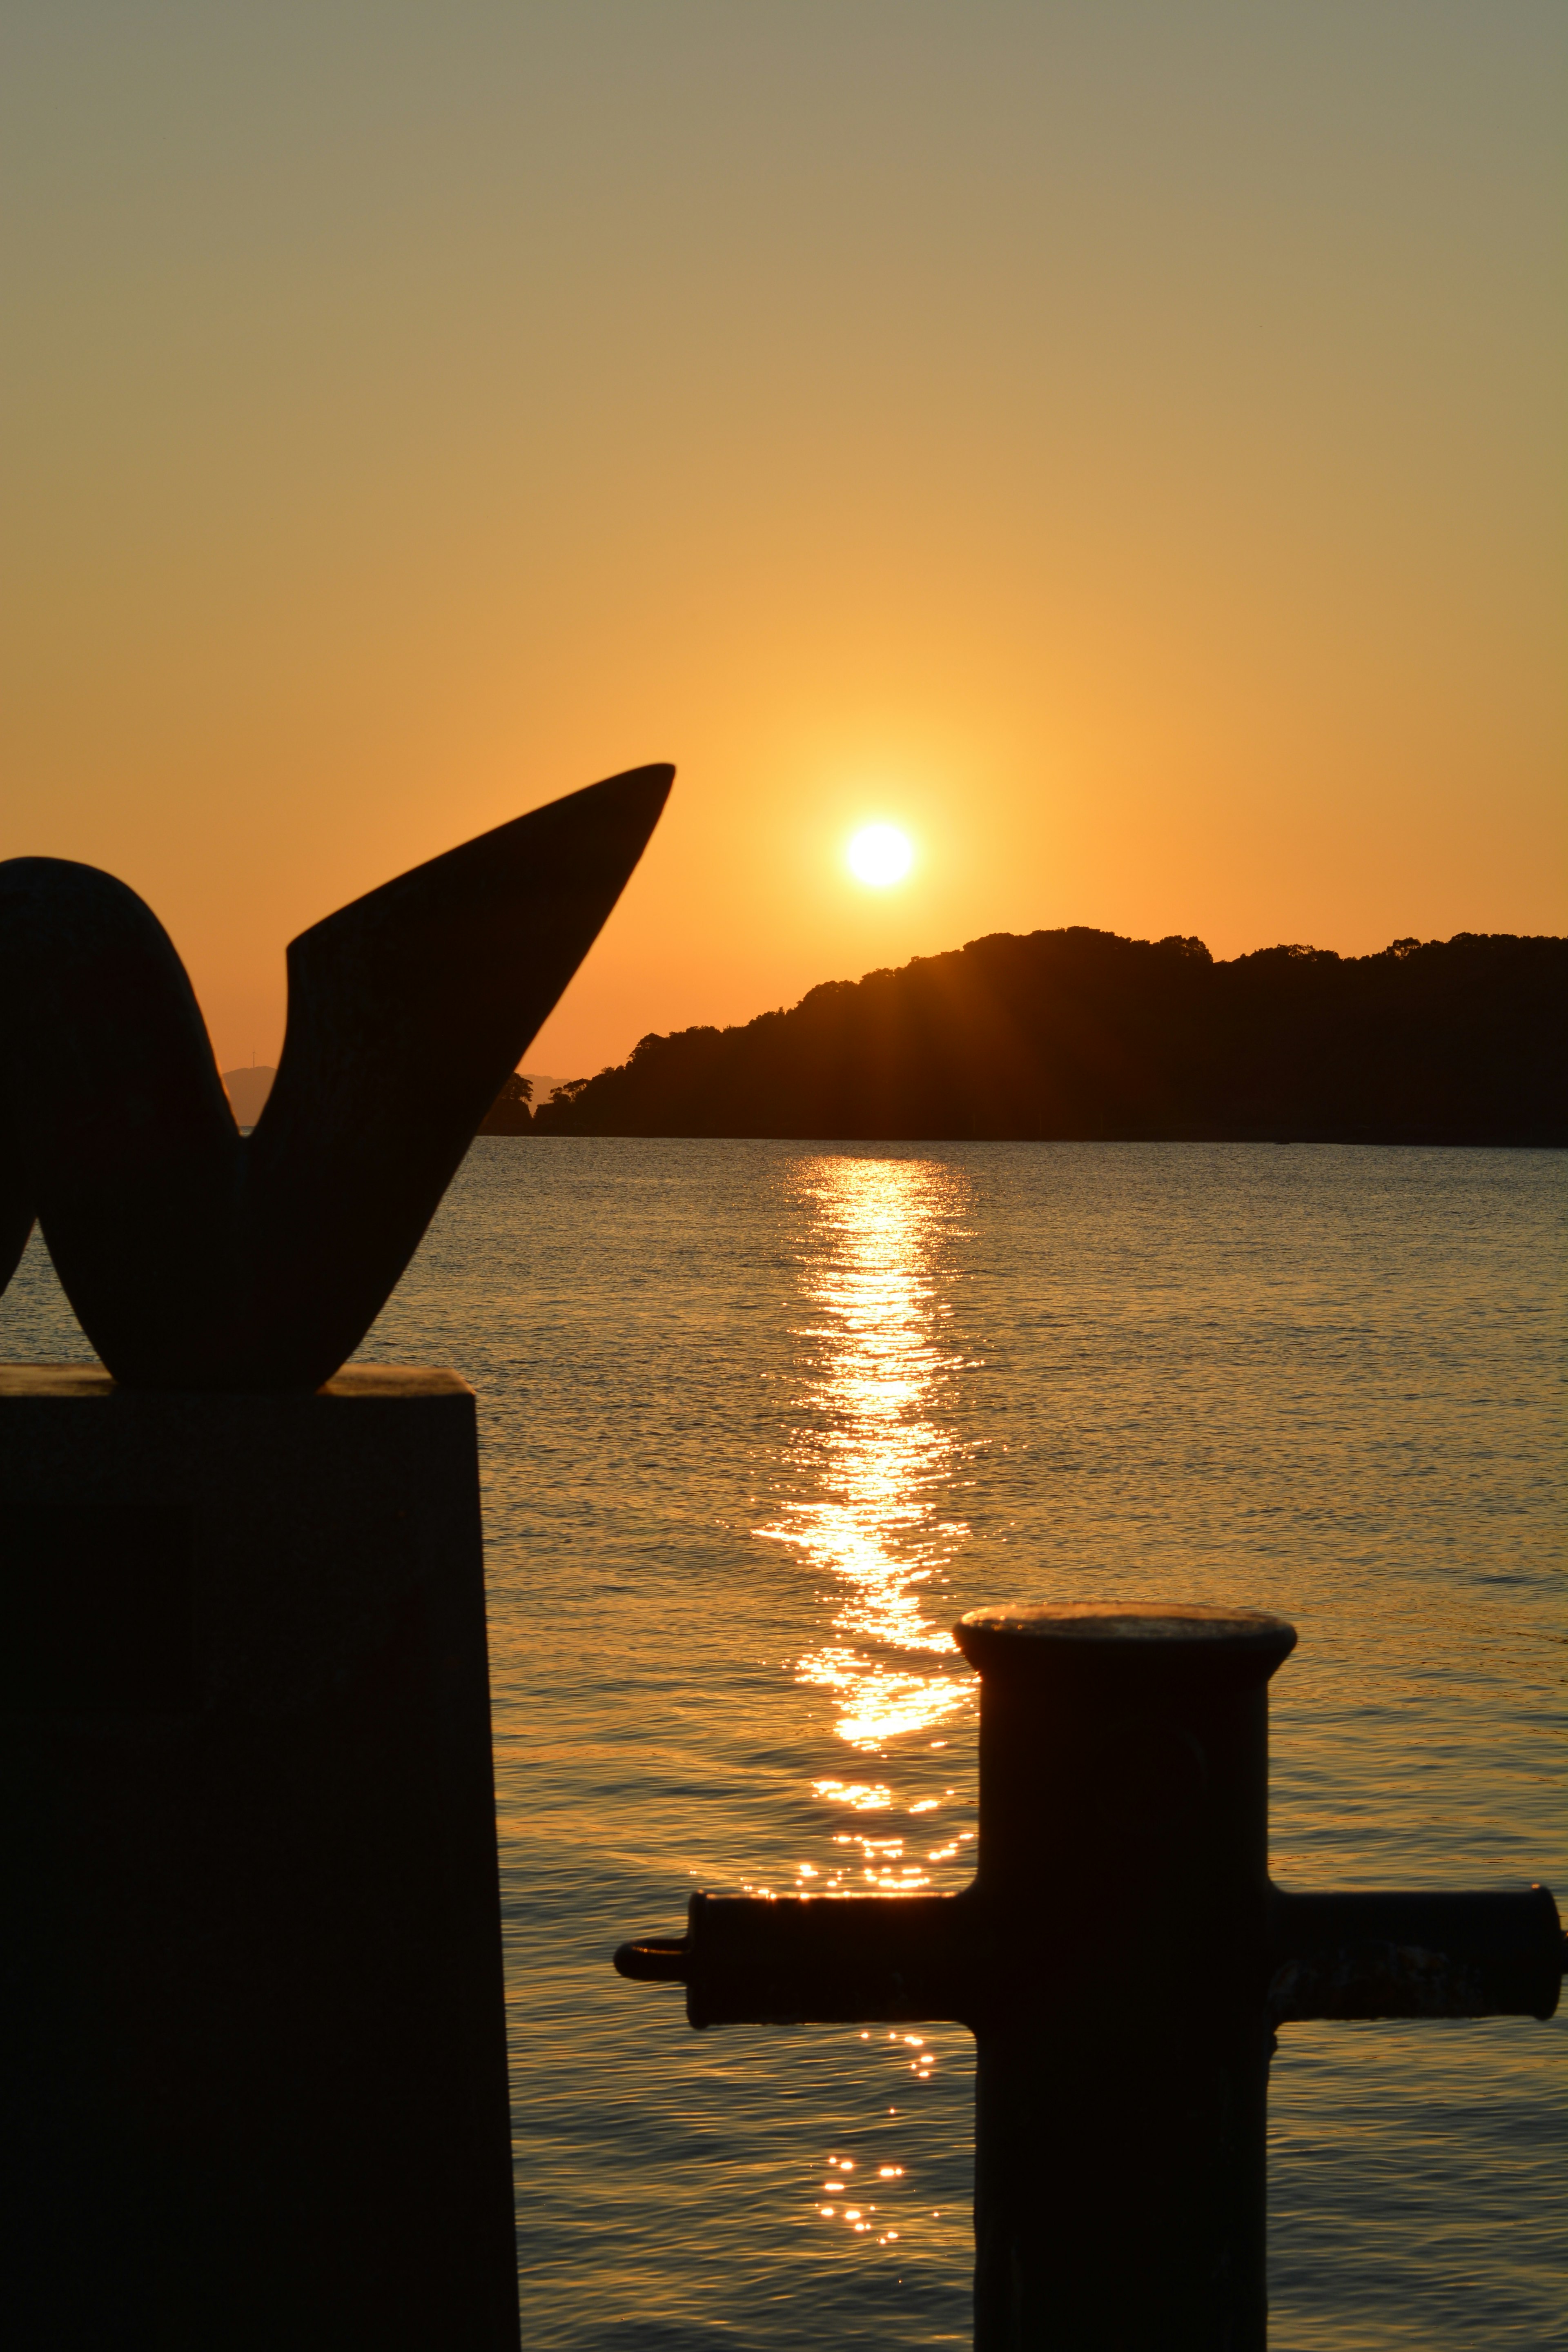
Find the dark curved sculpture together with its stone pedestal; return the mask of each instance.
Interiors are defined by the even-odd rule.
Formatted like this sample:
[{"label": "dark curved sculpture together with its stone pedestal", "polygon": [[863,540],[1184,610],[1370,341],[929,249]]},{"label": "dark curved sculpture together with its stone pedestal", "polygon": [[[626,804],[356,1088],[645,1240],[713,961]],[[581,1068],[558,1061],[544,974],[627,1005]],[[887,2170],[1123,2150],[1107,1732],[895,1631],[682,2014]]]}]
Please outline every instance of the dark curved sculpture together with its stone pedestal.
[{"label": "dark curved sculpture together with its stone pedestal", "polygon": [[108,1364],[0,1367],[21,2352],[517,2352],[475,1399],[329,1376],[668,786],[296,938],[249,1141],[141,901],[0,868],[0,1270],[38,1214]]}]

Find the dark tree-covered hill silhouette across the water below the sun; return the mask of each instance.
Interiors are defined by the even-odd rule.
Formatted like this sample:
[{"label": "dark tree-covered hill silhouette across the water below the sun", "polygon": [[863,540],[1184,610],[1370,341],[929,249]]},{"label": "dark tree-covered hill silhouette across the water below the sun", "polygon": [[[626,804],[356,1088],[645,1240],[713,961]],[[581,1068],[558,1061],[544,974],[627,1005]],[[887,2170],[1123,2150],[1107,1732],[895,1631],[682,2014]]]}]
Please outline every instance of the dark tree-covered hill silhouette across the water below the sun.
[{"label": "dark tree-covered hill silhouette across the water below the sun", "polygon": [[[1568,941],[1380,955],[997,931],[644,1037],[508,1129],[865,1141],[1568,1141]],[[496,1129],[491,1129],[496,1131]]]}]

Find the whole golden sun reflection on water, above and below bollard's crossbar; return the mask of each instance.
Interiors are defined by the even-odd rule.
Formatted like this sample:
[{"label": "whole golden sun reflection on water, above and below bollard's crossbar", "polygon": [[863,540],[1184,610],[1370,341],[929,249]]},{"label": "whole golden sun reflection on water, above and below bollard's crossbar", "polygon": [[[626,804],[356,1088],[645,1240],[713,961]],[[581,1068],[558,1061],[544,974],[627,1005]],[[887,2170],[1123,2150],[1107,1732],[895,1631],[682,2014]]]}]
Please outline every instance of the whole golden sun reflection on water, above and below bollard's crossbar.
[{"label": "whole golden sun reflection on water, above and below bollard's crossbar", "polygon": [[[832,1157],[799,1167],[797,1202],[804,1312],[780,1491],[755,1534],[788,1545],[818,1588],[820,1635],[792,1672],[832,1698],[849,1755],[811,1780],[820,1844],[795,1865],[795,1893],[912,1896],[957,1886],[973,1865],[976,1832],[957,1825],[973,1823],[973,1795],[954,1785],[969,1778],[966,1740],[950,1733],[973,1726],[976,1684],[947,1632],[950,1569],[969,1541],[954,1498],[973,1454],[959,1430],[973,1362],[952,1315],[971,1185],[933,1162]],[[860,2169],[835,2152],[799,2180],[827,2244],[903,2265],[940,2227],[929,2143],[891,2136],[926,2100],[961,2093],[966,2039],[860,2030],[875,2058]],[[922,2161],[879,2161],[919,2150]]]}]

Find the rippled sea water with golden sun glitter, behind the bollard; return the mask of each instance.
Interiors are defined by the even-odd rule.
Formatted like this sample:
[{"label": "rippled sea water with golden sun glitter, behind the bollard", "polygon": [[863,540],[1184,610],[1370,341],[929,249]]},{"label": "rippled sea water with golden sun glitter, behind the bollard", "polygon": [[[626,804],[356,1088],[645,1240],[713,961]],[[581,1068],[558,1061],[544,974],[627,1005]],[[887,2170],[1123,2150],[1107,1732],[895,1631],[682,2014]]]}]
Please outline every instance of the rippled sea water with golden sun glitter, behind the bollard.
[{"label": "rippled sea water with golden sun glitter, behind the bollard", "polygon": [[[480,1390],[529,2347],[969,2340],[969,2037],[609,1969],[966,1879],[964,1609],[1279,1609],[1276,1877],[1568,1896],[1566,1223],[1552,1152],[475,1143],[364,1355]],[[0,1352],[85,1352],[31,1249]],[[1561,2056],[1286,2027],[1276,2352],[1568,2340]]]}]

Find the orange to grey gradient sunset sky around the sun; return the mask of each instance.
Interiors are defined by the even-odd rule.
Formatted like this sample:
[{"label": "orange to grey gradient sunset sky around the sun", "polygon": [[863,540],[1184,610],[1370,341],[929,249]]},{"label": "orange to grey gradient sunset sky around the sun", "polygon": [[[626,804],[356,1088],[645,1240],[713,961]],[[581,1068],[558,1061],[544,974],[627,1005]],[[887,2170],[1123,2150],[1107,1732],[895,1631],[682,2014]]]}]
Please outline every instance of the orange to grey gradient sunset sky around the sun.
[{"label": "orange to grey gradient sunset sky around the sun", "polygon": [[[1563,931],[1559,0],[9,0],[0,854],[282,948],[618,767],[531,1068]],[[842,849],[919,861],[889,894]]]}]

